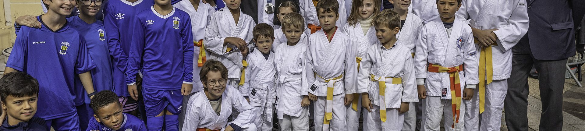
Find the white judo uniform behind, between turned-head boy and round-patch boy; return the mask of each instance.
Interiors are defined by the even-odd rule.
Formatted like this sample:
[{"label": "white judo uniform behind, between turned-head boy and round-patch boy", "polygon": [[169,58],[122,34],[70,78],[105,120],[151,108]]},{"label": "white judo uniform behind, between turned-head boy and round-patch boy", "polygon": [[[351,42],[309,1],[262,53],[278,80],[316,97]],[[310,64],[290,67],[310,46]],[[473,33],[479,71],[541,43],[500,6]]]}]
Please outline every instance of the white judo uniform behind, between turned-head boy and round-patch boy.
[{"label": "white judo uniform behind, between turned-head boy and round-patch boy", "polygon": [[[411,6],[410,6],[411,7]],[[400,29],[400,32],[396,35],[397,42],[400,45],[407,47],[414,57],[415,46],[418,39],[418,33],[422,28],[422,20],[418,18],[414,13],[408,12],[404,26]],[[402,130],[415,130],[417,126],[417,104],[415,102],[410,103],[408,106],[410,109],[404,113],[404,126]]]}]

